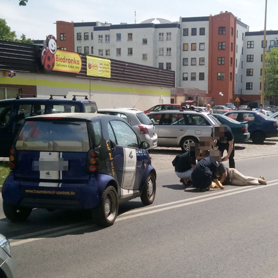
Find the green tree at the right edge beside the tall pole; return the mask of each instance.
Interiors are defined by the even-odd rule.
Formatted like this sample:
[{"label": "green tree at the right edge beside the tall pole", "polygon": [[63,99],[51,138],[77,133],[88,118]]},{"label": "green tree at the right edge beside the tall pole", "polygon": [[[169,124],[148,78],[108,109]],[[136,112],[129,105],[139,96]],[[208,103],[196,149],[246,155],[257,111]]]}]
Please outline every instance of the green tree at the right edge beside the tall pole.
[{"label": "green tree at the right edge beside the tall pole", "polygon": [[265,56],[265,96],[278,96],[278,47],[271,48]]}]

